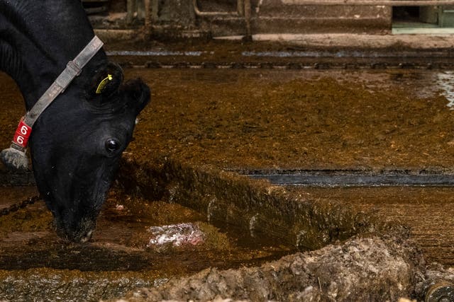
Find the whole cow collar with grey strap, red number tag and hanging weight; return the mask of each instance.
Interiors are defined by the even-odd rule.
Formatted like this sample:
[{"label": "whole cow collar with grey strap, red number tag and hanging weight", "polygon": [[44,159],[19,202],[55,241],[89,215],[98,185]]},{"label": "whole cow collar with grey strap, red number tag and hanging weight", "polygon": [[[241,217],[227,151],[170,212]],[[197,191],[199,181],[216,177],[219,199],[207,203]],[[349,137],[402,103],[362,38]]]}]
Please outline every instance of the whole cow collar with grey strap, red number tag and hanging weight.
[{"label": "whole cow collar with grey strap, red number tag and hanging weight", "polygon": [[103,46],[103,42],[96,35],[84,47],[82,52],[77,54],[72,61],[68,62],[65,70],[55,79],[47,91],[38,99],[33,108],[26,113],[19,121],[16,133],[14,134],[11,146],[0,153],[0,158],[8,168],[26,170],[28,158],[26,147],[30,137],[33,124],[35,124],[41,113],[48,108],[60,93],[65,91],[76,76],[79,76],[84,66],[94,57]]}]

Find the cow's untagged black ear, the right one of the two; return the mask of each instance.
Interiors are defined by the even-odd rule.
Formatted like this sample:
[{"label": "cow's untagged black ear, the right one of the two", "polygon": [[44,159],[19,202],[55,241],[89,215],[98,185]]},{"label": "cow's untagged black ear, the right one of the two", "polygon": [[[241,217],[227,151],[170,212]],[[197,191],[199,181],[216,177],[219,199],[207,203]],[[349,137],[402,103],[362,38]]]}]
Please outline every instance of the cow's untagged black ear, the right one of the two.
[{"label": "cow's untagged black ear, the right one of the two", "polygon": [[127,81],[121,91],[126,93],[128,108],[133,109],[135,115],[138,115],[150,102],[150,88],[141,79]]}]

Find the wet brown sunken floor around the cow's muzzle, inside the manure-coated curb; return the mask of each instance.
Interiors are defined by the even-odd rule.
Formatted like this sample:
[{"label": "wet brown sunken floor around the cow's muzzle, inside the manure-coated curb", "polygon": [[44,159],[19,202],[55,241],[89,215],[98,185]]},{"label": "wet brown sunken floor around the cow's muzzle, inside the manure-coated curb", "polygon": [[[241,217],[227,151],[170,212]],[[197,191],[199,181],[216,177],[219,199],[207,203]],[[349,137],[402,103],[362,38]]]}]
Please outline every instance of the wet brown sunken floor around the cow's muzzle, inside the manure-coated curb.
[{"label": "wet brown sunken floor around the cow's muzzle, inside the manure-coated curb", "polygon": [[[235,231],[220,231],[204,221],[203,215],[178,204],[152,202],[113,190],[92,240],[76,244],[57,237],[50,211],[42,201],[35,202],[0,216],[0,268],[153,272],[169,277],[199,272],[206,267],[259,265],[290,252],[284,247],[241,240]],[[188,234],[179,223],[199,230],[199,240],[182,239]],[[173,233],[167,235],[177,235],[179,244],[166,244],[167,241],[150,245],[157,238],[150,228],[169,225],[173,226]]]}]

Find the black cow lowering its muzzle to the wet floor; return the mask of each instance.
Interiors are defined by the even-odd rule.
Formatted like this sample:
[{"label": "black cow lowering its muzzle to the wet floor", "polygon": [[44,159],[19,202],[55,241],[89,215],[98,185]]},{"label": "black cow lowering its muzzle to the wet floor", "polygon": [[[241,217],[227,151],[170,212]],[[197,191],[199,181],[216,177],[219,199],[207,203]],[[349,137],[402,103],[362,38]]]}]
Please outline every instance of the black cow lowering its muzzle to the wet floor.
[{"label": "black cow lowering its muzzle to the wet floor", "polygon": [[[0,69],[18,84],[27,110],[92,37],[80,0],[0,0]],[[142,81],[122,81],[100,50],[33,126],[38,190],[57,232],[75,242],[91,237],[135,118],[150,100]]]}]

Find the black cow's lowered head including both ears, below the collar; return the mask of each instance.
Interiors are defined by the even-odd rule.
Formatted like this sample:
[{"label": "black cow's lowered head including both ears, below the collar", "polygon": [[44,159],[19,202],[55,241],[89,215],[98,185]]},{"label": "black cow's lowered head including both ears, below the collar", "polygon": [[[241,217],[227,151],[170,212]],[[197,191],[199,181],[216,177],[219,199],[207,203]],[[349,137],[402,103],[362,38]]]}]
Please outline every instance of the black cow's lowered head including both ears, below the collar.
[{"label": "black cow's lowered head including both ears, below the collar", "polygon": [[[99,89],[108,74],[112,80]],[[101,67],[90,83],[55,100],[33,128],[38,189],[57,232],[72,241],[91,237],[121,153],[133,137],[136,117],[150,100],[142,81],[122,85],[122,79],[117,66]]]}]

